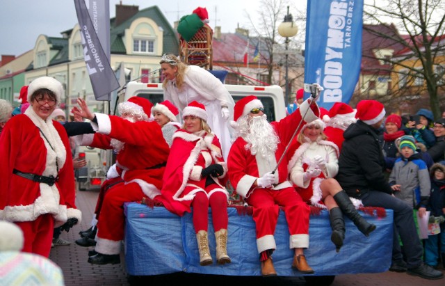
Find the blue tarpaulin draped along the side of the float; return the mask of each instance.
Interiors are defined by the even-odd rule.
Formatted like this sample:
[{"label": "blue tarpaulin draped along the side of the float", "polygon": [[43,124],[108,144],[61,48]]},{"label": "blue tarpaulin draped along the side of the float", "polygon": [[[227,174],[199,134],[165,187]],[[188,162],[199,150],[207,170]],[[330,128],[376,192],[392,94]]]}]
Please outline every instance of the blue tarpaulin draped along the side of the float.
[{"label": "blue tarpaulin draped along the side of the float", "polygon": [[[228,276],[260,276],[255,225],[252,216],[240,215],[234,207],[229,214],[227,253],[232,263],[216,264],[215,237],[209,210],[209,245],[213,264],[200,266],[192,215],[171,214],[164,207],[151,209],[130,202],[125,205],[125,260],[132,276],[151,276],[179,271]],[[309,248],[305,255],[316,276],[343,273],[378,273],[391,264],[393,212],[387,216],[362,215],[377,229],[369,237],[362,235],[355,225],[346,221],[346,239],[339,253],[330,241],[331,228],[327,211],[312,215],[309,223]],[[280,276],[301,276],[291,269],[293,250],[289,249],[289,230],[284,212],[275,230],[277,250],[273,253],[275,270]]]}]

